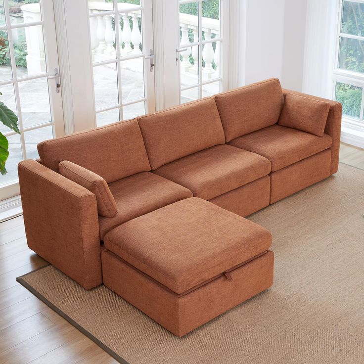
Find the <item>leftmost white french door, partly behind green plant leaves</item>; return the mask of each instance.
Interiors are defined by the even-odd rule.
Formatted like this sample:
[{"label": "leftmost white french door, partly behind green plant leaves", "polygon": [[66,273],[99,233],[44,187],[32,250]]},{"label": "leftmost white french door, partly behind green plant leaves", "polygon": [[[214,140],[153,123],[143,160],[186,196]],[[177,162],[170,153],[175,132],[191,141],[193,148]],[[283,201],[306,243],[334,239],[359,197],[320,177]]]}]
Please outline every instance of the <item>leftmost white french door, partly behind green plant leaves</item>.
[{"label": "leftmost white french door, partly behind green plant leaves", "polygon": [[40,141],[64,135],[56,44],[52,1],[0,0],[0,101],[17,114],[21,132],[0,123],[9,141],[0,200],[19,193],[17,164],[38,158]]}]

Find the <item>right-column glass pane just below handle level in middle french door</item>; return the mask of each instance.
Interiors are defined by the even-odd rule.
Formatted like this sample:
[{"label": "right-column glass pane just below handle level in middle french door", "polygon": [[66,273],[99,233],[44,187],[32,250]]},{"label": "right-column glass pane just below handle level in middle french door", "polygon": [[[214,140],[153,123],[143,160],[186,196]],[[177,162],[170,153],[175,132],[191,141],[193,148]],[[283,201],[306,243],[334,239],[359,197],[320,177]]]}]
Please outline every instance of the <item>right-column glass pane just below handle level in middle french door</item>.
[{"label": "right-column glass pane just below handle level in middle french door", "polygon": [[143,58],[121,62],[121,88],[123,103],[144,97],[144,62]]}]

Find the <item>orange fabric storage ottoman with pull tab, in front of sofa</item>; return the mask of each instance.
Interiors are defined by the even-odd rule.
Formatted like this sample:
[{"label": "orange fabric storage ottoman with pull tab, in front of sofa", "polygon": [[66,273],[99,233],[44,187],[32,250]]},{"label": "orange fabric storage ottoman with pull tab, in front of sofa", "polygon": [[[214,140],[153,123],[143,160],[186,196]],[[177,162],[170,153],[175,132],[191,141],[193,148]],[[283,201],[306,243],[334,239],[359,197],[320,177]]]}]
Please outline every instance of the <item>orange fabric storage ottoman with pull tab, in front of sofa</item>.
[{"label": "orange fabric storage ottoman with pull tab, in front of sofa", "polygon": [[192,197],[108,232],[105,286],[183,336],[273,284],[271,233]]}]

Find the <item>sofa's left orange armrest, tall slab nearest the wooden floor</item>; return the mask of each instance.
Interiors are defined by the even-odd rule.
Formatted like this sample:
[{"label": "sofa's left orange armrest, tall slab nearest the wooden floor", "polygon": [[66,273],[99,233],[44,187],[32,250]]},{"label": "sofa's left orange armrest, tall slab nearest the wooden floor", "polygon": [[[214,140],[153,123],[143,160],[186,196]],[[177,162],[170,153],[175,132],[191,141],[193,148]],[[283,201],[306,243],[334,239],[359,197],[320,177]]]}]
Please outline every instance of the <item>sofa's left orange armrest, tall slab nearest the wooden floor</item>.
[{"label": "sofa's left orange armrest, tall slab nearest the wooden floor", "polygon": [[101,284],[96,196],[35,160],[18,173],[29,248],[84,288]]}]

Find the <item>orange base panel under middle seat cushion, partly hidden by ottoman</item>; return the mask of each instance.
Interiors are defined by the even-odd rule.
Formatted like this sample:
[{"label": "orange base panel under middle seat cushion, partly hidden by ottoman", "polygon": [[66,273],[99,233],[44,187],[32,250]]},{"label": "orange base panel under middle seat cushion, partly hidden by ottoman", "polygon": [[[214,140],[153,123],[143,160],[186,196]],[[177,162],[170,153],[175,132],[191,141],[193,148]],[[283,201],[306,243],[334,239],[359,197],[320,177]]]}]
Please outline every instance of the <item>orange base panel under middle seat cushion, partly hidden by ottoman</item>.
[{"label": "orange base panel under middle seat cushion, partly hidden by ottoman", "polygon": [[215,197],[210,202],[242,217],[267,207],[270,202],[271,180],[269,176],[244,184]]}]

